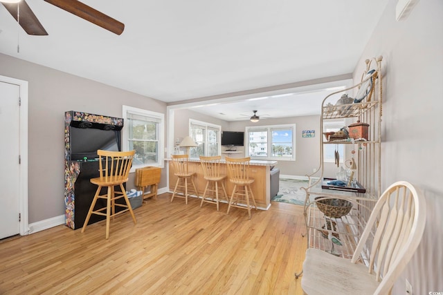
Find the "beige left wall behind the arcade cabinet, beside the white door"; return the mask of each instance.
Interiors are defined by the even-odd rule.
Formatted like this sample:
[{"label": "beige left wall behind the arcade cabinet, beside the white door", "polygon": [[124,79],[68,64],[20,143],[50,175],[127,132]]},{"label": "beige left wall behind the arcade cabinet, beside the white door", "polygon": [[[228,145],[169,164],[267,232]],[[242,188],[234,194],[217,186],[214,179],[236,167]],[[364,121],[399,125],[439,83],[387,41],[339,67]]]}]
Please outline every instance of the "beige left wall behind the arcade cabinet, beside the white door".
[{"label": "beige left wall behind the arcade cabinet, beside the white door", "polygon": [[[166,113],[164,102],[8,55],[0,54],[0,65],[0,75],[28,81],[29,223],[64,214],[65,111],[122,117],[126,104]],[[165,186],[163,169],[159,187]]]}]

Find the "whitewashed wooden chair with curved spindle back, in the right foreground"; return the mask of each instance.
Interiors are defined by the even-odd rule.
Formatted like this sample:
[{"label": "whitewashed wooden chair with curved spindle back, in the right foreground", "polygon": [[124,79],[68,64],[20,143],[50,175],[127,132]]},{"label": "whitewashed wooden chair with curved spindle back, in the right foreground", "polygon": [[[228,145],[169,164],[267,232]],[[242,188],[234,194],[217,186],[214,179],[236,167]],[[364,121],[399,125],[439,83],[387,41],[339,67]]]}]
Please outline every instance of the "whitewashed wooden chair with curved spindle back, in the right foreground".
[{"label": "whitewashed wooden chair with curved spindle back, in the right foreground", "polygon": [[[419,245],[425,223],[426,203],[422,194],[408,182],[395,182],[375,204],[352,259],[307,249],[303,291],[308,295],[390,294]],[[359,260],[374,228],[367,266]]]}]

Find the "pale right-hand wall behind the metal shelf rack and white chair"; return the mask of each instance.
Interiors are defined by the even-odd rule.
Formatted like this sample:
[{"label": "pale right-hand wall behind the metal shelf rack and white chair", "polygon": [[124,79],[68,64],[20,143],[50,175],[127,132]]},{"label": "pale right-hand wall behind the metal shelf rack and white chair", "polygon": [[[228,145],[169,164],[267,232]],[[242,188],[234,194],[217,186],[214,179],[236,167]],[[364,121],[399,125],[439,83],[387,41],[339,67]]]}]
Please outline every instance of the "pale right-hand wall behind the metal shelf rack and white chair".
[{"label": "pale right-hand wall behind the metal shelf rack and white chair", "polygon": [[427,221],[422,243],[392,294],[443,292],[443,1],[418,1],[395,21],[390,0],[354,72],[364,59],[383,56],[382,189],[407,180],[424,192]]}]

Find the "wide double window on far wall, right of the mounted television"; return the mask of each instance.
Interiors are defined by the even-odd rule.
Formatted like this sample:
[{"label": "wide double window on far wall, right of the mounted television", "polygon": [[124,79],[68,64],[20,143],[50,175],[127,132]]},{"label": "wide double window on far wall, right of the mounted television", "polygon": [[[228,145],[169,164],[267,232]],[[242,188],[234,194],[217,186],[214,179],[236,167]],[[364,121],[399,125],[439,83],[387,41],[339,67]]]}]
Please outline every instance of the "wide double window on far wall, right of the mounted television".
[{"label": "wide double window on far wall, right of the mounted television", "polygon": [[296,160],[296,125],[246,127],[248,155],[255,160]]}]

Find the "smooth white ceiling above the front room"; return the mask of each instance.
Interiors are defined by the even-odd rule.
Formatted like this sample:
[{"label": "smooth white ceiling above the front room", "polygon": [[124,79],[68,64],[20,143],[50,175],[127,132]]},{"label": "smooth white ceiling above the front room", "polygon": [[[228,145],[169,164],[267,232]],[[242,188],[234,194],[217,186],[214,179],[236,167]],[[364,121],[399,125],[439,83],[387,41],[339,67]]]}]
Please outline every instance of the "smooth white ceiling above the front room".
[{"label": "smooth white ceiling above the front room", "polygon": [[[125,23],[123,34],[27,0],[49,35],[26,35],[0,5],[0,53],[179,102],[352,73],[388,0],[82,2]],[[246,115],[271,108],[257,102]]]}]

